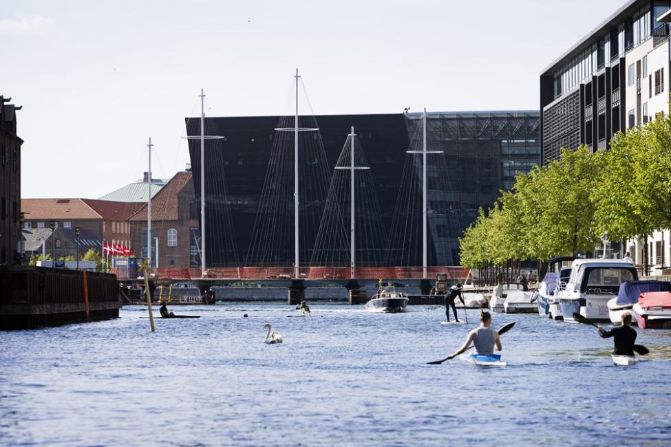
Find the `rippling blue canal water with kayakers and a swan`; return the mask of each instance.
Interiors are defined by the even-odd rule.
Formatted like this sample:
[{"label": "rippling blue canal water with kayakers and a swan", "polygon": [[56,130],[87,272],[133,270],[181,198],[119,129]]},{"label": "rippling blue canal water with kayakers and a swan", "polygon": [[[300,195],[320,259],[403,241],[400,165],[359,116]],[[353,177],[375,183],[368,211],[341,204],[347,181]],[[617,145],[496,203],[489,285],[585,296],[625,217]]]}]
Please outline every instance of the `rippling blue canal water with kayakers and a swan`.
[{"label": "rippling blue canal water with kayakers and a swan", "polygon": [[[502,336],[508,367],[458,359],[476,326],[443,307],[371,314],[312,303],[177,307],[0,333],[0,444],[52,446],[668,446],[671,331],[639,331],[649,360],[615,367],[596,329],[540,318]],[[248,314],[248,318],[243,318]],[[266,345],[265,323],[284,337]]]}]

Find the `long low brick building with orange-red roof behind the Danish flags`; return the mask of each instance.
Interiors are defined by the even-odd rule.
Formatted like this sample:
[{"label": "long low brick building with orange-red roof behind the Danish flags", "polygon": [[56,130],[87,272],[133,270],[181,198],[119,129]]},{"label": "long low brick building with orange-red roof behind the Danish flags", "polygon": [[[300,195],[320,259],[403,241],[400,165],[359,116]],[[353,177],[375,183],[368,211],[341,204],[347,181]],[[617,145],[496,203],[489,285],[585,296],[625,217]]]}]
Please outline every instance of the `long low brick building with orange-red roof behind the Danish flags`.
[{"label": "long low brick building with orange-red roof behind the Danish flags", "polygon": [[[23,199],[23,228],[56,228],[92,230],[105,242],[131,247],[131,230],[127,221],[142,204],[95,199]],[[102,248],[100,248],[102,250]]]}]

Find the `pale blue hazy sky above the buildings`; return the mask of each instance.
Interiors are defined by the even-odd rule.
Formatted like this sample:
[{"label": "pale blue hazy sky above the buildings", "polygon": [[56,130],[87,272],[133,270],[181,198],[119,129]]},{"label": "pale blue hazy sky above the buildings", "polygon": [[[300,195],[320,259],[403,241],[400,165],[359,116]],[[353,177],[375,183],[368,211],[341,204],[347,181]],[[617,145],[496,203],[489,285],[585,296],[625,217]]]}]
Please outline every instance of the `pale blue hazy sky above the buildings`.
[{"label": "pale blue hazy sky above the buildings", "polygon": [[21,197],[98,198],[189,162],[184,117],[535,110],[539,75],[624,0],[3,1]]}]

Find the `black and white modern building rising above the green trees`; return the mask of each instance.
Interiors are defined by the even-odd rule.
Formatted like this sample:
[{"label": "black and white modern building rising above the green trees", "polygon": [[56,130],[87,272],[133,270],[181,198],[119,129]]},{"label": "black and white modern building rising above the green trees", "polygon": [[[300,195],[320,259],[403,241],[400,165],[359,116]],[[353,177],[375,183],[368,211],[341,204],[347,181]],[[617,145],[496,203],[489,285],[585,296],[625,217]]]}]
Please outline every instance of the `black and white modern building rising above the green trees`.
[{"label": "black and white modern building rising above the green trees", "polygon": [[562,148],[606,149],[618,131],[668,111],[670,6],[627,1],[543,70],[541,164]]}]

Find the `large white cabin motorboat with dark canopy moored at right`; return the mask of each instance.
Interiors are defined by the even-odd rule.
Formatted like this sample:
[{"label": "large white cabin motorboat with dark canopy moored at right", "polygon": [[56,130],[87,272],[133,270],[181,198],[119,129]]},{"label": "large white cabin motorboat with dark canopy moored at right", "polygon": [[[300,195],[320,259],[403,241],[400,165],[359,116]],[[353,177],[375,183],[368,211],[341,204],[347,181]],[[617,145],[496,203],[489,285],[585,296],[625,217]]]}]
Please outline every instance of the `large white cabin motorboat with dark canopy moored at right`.
[{"label": "large white cabin motorboat with dark canopy moored at right", "polygon": [[608,301],[626,281],[638,281],[631,261],[623,259],[575,259],[566,287],[557,291],[564,321],[575,323],[573,314],[591,322],[610,321]]}]

